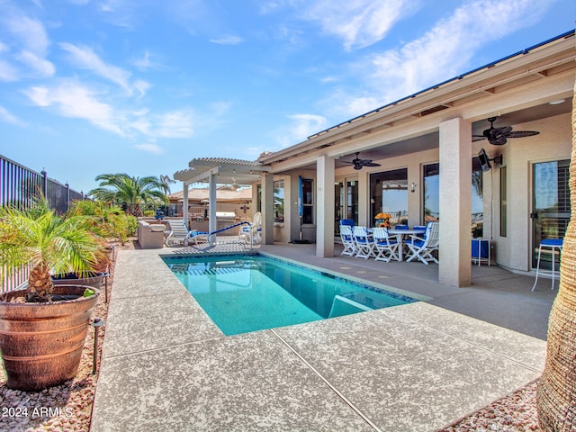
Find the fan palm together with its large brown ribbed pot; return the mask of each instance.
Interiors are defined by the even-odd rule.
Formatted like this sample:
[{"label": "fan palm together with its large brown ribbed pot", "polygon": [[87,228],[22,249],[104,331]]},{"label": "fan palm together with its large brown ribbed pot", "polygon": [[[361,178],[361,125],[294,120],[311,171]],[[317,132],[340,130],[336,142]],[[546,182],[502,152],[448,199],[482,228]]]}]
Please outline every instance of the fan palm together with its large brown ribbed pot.
[{"label": "fan palm together with its large brown ribbed pot", "polygon": [[43,198],[28,210],[0,207],[0,280],[31,268],[25,289],[0,295],[9,388],[39,391],[76,375],[98,291],[55,286],[51,275],[87,275],[103,256],[103,242],[85,217],[61,217]]}]

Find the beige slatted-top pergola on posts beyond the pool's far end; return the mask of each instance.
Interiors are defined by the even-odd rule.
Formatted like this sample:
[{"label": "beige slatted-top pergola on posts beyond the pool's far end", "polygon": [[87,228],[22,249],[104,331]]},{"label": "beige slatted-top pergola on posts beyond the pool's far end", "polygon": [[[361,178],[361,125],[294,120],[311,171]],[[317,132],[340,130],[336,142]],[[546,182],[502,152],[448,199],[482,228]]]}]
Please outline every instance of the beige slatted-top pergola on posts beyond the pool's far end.
[{"label": "beige slatted-top pergola on posts beyond the pool's far end", "polygon": [[[175,180],[183,182],[183,217],[188,221],[188,186],[194,183],[209,184],[209,223],[210,232],[216,230],[216,187],[218,184],[253,184],[270,170],[260,162],[225,157],[197,157],[192,159],[188,169],[176,171]],[[213,235],[215,236],[215,234]],[[214,240],[211,236],[211,241]]]}]

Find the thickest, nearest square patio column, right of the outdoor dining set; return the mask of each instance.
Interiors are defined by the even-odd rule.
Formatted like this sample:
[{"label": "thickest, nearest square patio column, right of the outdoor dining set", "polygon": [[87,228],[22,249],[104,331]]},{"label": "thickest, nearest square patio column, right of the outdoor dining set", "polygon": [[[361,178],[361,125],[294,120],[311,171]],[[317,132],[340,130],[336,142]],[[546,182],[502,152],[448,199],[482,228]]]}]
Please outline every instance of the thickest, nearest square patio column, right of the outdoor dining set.
[{"label": "thickest, nearest square patio column, right of the outdoor dining set", "polygon": [[455,118],[440,123],[440,248],[438,282],[472,282],[472,123]]}]

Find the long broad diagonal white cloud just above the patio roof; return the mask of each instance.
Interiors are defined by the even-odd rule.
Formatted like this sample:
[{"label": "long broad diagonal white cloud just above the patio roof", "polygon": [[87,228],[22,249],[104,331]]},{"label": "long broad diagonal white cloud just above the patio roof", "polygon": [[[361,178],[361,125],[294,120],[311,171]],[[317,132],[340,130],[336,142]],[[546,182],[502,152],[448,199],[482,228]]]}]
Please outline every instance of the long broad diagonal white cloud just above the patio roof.
[{"label": "long broad diagonal white cloud just above the patio roof", "polygon": [[355,116],[461,74],[483,45],[536,23],[553,1],[468,1],[419,39],[356,64],[354,74],[365,77],[365,91],[339,90],[325,104],[339,115]]}]

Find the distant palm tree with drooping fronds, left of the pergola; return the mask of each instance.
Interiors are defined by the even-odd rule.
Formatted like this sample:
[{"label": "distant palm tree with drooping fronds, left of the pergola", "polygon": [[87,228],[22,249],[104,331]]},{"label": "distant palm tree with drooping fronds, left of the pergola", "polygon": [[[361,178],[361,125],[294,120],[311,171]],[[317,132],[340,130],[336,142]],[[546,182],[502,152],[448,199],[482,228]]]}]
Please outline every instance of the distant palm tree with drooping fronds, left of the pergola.
[{"label": "distant palm tree with drooping fronds, left of the pergola", "polygon": [[126,212],[136,217],[142,216],[141,204],[148,202],[168,202],[167,186],[158,177],[130,177],[127,174],[101,174],[96,176],[100,187],[88,192],[88,195],[104,202],[126,204]]}]

